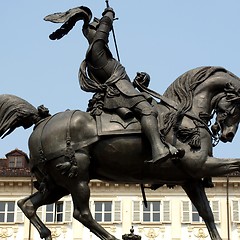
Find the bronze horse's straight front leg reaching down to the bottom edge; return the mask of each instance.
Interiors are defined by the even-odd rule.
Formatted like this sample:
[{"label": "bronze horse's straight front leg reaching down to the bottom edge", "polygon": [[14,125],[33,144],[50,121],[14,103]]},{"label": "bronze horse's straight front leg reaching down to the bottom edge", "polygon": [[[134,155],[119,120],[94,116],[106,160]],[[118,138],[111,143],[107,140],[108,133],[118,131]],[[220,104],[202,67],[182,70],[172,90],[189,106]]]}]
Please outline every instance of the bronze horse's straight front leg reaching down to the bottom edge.
[{"label": "bronze horse's straight front leg reaching down to the bottom edge", "polygon": [[185,190],[193,205],[198,210],[199,215],[204,220],[211,239],[221,240],[222,238],[220,237],[214,223],[213,213],[209,206],[202,180],[188,181],[182,185],[182,188]]}]

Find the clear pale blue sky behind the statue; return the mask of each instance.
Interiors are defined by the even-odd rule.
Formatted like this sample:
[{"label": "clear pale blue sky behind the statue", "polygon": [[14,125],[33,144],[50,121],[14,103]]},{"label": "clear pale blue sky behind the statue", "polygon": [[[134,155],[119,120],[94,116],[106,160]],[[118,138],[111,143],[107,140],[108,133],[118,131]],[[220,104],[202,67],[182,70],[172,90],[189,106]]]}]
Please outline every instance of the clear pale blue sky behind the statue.
[{"label": "clear pale blue sky behind the statue", "polygon": [[[150,87],[159,93],[182,73],[199,66],[222,66],[240,76],[240,1],[110,0],[122,64],[131,78],[137,71],[151,75]],[[63,39],[48,35],[60,25],[43,18],[85,5],[100,17],[105,1],[0,1],[0,89],[51,113],[85,110],[91,94],[78,84],[78,68],[87,43],[82,23]],[[110,47],[113,49],[112,39]],[[113,50],[114,53],[114,50]],[[18,129],[0,141],[0,158],[15,148],[28,153],[30,130]],[[239,157],[240,133],[231,144],[214,149],[218,157]]]}]

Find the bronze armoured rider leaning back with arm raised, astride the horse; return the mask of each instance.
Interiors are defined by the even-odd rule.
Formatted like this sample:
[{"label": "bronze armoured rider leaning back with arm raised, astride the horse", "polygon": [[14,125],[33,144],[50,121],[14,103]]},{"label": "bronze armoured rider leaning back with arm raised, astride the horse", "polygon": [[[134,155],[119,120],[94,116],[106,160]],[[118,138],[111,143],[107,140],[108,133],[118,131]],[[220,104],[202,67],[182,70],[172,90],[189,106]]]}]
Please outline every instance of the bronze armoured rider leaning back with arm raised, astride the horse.
[{"label": "bronze armoured rider leaning back with arm raised, astride the horse", "polygon": [[98,107],[108,110],[130,109],[140,119],[143,133],[152,146],[152,160],[149,162],[163,162],[169,157],[176,157],[178,150],[161,141],[157,111],[133,87],[125,68],[113,58],[108,48],[109,33],[115,17],[113,9],[106,8],[102,16],[100,20],[94,18],[92,23],[85,21],[83,25],[83,34],[88,40],[89,48],[80,67],[81,88],[95,92],[90,101],[91,107],[97,102]]}]

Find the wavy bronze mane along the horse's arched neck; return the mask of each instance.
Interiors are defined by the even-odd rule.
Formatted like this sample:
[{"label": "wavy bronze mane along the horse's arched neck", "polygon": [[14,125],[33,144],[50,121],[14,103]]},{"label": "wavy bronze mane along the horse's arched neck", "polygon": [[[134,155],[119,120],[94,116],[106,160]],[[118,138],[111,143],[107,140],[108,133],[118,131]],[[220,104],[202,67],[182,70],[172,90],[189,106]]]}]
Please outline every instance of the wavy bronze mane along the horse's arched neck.
[{"label": "wavy bronze mane along the horse's arched neck", "polygon": [[182,74],[167,88],[163,95],[177,103],[178,110],[167,114],[165,119],[166,132],[172,125],[178,128],[178,123],[180,123],[184,114],[192,108],[196,87],[216,72],[228,73],[232,77],[238,78],[222,67],[199,67]]}]

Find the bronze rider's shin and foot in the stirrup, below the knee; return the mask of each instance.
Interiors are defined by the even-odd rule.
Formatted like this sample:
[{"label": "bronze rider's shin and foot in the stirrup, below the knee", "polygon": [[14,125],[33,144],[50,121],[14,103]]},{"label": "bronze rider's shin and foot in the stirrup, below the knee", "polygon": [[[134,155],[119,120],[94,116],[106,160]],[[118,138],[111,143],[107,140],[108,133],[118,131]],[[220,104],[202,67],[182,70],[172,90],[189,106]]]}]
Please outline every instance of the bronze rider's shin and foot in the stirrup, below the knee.
[{"label": "bronze rider's shin and foot in the stirrup, below the knee", "polygon": [[142,116],[141,125],[144,134],[147,136],[152,146],[152,160],[146,162],[165,162],[168,158],[179,157],[178,149],[174,146],[167,144],[165,145],[160,138],[158,132],[158,122],[154,115]]}]

